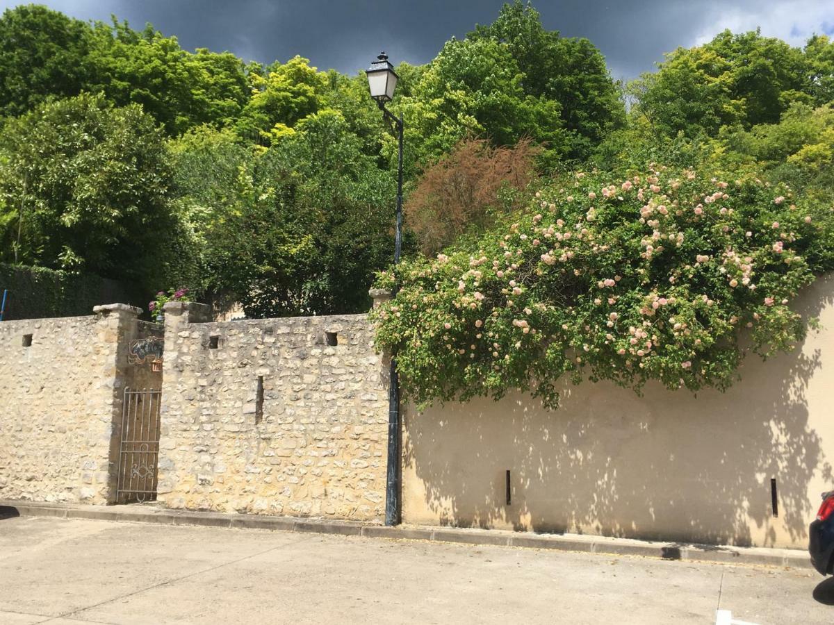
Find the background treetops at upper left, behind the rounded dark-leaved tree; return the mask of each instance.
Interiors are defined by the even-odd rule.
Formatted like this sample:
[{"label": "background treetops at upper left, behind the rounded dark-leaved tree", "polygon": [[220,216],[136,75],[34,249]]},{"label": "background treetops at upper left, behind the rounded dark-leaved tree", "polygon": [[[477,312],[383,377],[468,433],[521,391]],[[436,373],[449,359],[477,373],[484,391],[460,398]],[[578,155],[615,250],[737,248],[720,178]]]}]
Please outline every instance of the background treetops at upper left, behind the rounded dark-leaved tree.
[{"label": "background treetops at upper left, behind the rounded dark-leaved tree", "polygon": [[103,92],[141,104],[169,134],[228,124],[249,101],[244,63],[230,52],[186,52],[148,26],[84,23],[38,5],[0,19],[0,115],[20,115],[49,97]]}]

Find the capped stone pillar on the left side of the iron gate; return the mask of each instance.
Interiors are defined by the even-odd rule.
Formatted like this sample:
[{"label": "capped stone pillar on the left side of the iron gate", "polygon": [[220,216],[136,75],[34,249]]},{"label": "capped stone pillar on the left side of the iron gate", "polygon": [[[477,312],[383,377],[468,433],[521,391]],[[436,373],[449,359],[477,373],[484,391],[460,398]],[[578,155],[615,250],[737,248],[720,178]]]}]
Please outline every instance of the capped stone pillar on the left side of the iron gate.
[{"label": "capped stone pillar on the left side of the iron gate", "polygon": [[124,387],[128,378],[129,343],[142,308],[128,304],[103,304],[94,307],[93,313],[96,316],[98,344],[106,356],[103,359],[103,369],[95,373],[96,385],[109,398],[109,409],[100,417],[103,433],[95,444],[95,456],[98,458],[95,462],[98,466],[93,475],[93,493],[83,492],[82,499],[90,503],[114,503]]}]

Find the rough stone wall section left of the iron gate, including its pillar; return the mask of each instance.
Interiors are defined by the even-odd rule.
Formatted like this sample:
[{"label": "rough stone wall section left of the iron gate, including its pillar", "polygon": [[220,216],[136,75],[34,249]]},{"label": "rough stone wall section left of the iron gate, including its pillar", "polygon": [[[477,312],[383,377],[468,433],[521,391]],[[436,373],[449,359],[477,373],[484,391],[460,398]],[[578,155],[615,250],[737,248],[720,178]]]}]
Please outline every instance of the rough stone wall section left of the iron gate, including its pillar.
[{"label": "rough stone wall section left of the iron gate, including its pillar", "polygon": [[95,311],[0,323],[0,499],[113,501],[123,387],[144,376],[128,344],[159,329],[124,304]]}]

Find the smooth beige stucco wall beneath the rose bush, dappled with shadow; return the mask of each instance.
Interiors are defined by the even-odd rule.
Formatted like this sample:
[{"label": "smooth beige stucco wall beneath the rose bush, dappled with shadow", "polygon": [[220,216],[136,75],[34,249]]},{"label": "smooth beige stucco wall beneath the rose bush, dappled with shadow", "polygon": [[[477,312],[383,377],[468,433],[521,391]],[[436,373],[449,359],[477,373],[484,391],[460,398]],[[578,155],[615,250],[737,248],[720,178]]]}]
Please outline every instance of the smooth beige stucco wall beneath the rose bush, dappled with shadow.
[{"label": "smooth beige stucco wall beneath the rose bush, dappled with shadow", "polygon": [[407,411],[404,520],[806,547],[834,488],[834,280],[797,309],[824,329],[746,358],[726,393],[583,383],[555,412],[520,395]]}]

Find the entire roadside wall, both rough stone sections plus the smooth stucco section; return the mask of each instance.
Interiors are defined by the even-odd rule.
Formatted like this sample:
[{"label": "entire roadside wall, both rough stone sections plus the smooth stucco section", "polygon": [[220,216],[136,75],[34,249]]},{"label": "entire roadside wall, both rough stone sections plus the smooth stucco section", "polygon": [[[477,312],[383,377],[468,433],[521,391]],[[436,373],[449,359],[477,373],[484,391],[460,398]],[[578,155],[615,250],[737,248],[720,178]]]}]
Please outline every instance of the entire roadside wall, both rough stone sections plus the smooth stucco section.
[{"label": "entire roadside wall, both rough stone sections plus the smooth stucco section", "polygon": [[[804,547],[834,488],[834,278],[797,307],[824,329],[747,358],[726,393],[583,383],[555,412],[517,394],[406,407],[404,522]],[[388,368],[366,316],[208,323],[168,303],[161,379],[128,360],[161,328],[95,310],[0,323],[0,499],[113,502],[129,386],[163,390],[162,505],[381,520]]]}]

